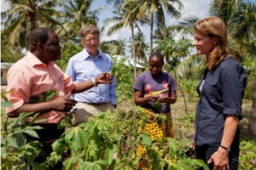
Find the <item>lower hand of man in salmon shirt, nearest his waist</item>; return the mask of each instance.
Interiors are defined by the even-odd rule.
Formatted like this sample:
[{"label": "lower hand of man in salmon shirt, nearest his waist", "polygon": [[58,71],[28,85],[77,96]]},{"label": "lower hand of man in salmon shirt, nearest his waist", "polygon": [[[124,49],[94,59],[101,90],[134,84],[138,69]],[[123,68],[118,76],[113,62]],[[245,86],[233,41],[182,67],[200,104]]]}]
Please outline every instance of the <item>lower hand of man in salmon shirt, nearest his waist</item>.
[{"label": "lower hand of man in salmon shirt, nearest his waist", "polygon": [[73,106],[76,105],[77,101],[69,98],[71,94],[67,94],[61,97],[53,97],[49,99],[51,101],[52,107],[54,111],[63,111],[69,112],[73,109]]}]

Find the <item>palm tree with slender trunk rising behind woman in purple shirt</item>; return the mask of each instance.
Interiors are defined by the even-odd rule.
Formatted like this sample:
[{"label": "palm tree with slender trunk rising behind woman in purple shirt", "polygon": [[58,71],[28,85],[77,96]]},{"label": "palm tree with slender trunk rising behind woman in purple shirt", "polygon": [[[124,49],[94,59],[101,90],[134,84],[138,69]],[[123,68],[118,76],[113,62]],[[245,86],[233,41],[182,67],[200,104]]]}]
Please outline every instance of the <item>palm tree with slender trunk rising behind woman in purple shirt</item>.
[{"label": "palm tree with slender trunk rising behind woman in purple shirt", "polygon": [[[175,19],[179,19],[181,14],[172,4],[177,4],[179,10],[183,8],[183,4],[179,0],[137,0],[136,2],[139,3],[137,6],[139,8],[139,19],[141,20],[147,15],[150,18],[150,53],[152,53],[154,26],[157,28],[166,27],[165,12],[171,14],[171,17]],[[134,8],[133,11],[137,11],[137,8]]]}]

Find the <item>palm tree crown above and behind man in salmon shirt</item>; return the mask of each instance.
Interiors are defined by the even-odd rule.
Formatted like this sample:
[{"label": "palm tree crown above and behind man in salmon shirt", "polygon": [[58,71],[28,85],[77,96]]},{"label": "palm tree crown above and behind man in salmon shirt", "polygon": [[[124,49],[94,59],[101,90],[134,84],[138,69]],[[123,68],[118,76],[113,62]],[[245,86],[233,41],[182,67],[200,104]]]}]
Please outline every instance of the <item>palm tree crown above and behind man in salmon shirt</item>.
[{"label": "palm tree crown above and behind man in salmon shirt", "polygon": [[61,26],[57,20],[60,13],[55,10],[54,1],[6,0],[10,8],[1,13],[4,28],[1,39],[15,48],[28,47],[28,35],[39,26]]}]

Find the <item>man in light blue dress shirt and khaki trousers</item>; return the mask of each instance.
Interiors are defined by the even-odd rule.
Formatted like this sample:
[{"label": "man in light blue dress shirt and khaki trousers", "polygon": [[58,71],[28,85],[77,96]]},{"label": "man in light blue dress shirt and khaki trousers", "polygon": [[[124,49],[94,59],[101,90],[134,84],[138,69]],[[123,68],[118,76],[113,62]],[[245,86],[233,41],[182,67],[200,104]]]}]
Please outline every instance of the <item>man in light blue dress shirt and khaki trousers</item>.
[{"label": "man in light blue dress shirt and khaki trousers", "polygon": [[108,54],[98,50],[100,43],[100,31],[96,26],[83,26],[80,30],[81,42],[84,50],[75,54],[67,64],[67,75],[74,82],[83,82],[92,79],[94,88],[84,93],[74,94],[73,98],[78,101],[77,111],[73,117],[73,123],[84,122],[85,116],[96,116],[100,111],[113,111],[116,107],[116,78],[113,77],[111,84],[96,84],[94,77],[104,71],[110,71],[113,62]]}]

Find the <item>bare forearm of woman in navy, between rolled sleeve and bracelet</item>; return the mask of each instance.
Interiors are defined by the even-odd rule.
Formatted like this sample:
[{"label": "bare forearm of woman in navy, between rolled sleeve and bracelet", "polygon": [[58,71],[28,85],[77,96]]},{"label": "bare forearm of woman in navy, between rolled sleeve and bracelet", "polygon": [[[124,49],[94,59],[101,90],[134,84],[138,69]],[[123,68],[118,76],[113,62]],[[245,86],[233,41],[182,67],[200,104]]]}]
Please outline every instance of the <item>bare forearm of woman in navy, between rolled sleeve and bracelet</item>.
[{"label": "bare forearm of woman in navy, between rolled sleeve and bracelet", "polygon": [[227,116],[224,122],[224,134],[221,140],[221,144],[227,148],[230,148],[233,139],[235,138],[238,123],[238,116]]}]

